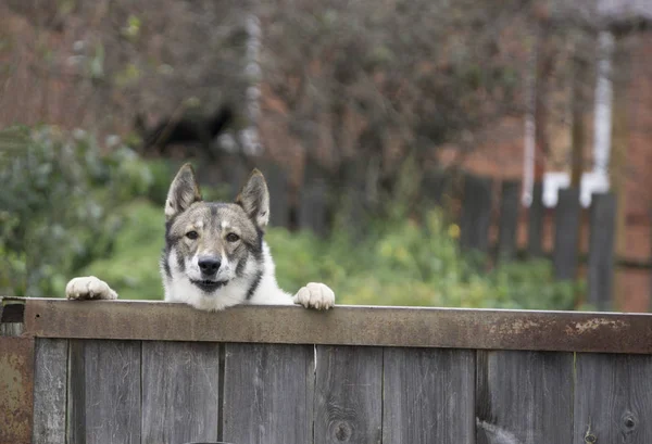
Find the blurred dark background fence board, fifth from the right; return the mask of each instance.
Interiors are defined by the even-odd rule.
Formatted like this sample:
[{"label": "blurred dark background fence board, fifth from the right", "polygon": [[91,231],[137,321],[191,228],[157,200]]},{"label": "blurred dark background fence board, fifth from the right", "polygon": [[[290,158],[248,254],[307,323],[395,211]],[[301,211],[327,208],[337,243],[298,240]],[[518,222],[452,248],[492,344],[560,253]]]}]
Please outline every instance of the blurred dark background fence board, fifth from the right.
[{"label": "blurred dark background fence board, fifth from the right", "polygon": [[491,187],[489,177],[466,175],[460,220],[460,245],[465,250],[487,252],[491,225]]}]

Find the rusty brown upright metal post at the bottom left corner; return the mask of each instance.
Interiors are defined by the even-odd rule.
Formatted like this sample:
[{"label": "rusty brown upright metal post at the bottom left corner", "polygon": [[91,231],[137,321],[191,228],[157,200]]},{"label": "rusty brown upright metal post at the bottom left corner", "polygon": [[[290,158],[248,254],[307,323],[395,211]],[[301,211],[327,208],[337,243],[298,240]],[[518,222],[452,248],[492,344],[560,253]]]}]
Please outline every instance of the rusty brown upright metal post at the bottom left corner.
[{"label": "rusty brown upright metal post at the bottom left corner", "polygon": [[0,443],[32,442],[34,338],[0,337]]}]

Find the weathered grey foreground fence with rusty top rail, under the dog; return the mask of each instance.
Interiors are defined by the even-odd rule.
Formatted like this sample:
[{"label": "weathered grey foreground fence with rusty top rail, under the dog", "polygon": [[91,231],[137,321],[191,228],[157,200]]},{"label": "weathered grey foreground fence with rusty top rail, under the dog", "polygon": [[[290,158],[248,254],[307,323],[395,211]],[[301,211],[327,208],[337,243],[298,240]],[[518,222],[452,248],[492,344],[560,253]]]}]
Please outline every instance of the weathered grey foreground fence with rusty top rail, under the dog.
[{"label": "weathered grey foreground fence with rusty top rail, under the dog", "polygon": [[652,315],[3,306],[0,443],[652,442]]}]

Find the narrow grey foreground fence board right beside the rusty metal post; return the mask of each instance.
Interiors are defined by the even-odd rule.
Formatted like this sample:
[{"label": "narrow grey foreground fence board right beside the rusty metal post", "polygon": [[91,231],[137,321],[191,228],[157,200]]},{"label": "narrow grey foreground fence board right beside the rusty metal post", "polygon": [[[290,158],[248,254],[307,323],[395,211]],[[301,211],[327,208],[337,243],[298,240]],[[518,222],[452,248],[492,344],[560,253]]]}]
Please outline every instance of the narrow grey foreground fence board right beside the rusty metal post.
[{"label": "narrow grey foreground fence board right beside the rusty metal post", "polygon": [[36,342],[34,444],[65,443],[67,351],[68,342],[64,339]]}]

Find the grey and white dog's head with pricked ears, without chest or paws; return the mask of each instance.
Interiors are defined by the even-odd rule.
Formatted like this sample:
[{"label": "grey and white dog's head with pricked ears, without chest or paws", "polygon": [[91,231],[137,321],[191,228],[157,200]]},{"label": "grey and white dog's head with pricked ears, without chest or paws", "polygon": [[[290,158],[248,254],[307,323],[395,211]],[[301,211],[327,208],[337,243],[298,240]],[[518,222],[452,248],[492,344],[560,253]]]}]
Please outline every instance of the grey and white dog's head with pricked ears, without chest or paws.
[{"label": "grey and white dog's head with pricked ears, without chest or paws", "polygon": [[[164,272],[213,295],[235,279],[256,272],[269,220],[269,193],[254,169],[235,203],[204,202],[195,173],[184,165],[165,202]],[[250,277],[251,278],[251,277]]]}]

